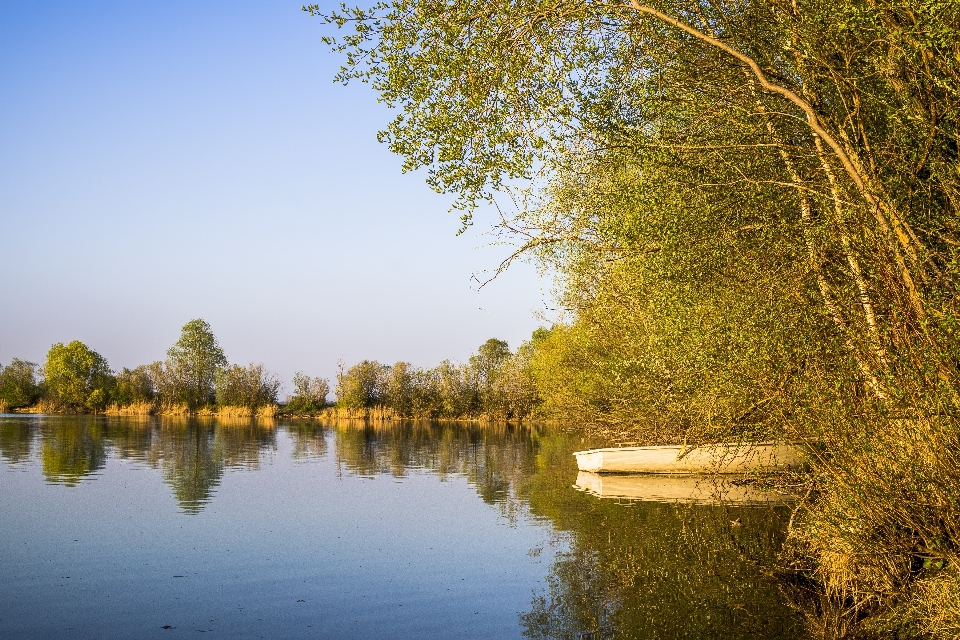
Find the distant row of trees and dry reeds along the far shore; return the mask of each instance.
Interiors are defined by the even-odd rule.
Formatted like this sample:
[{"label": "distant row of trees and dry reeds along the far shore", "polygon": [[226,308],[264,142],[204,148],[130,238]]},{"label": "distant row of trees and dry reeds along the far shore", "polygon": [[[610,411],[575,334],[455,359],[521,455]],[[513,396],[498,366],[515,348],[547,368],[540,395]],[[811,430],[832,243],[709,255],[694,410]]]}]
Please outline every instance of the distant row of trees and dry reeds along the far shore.
[{"label": "distant row of trees and dry reeds along the far shore", "polygon": [[491,338],[466,363],[445,360],[428,369],[408,362],[341,363],[331,407],[329,380],[302,372],[281,401],[275,374],[262,364],[230,364],[210,325],[197,319],[183,326],[166,360],[133,369],[112,371],[79,340],[50,347],[42,366],[14,358],[0,367],[0,408],[237,416],[319,415],[332,408],[349,417],[522,420],[539,405],[530,362],[546,334],[535,332],[516,353]]}]

